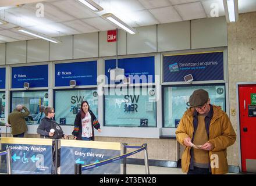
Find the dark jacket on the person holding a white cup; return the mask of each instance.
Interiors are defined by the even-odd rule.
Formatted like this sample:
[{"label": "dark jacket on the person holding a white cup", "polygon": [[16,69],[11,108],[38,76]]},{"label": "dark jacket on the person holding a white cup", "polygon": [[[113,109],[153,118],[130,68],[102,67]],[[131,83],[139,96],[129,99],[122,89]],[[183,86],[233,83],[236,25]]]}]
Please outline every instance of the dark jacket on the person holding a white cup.
[{"label": "dark jacket on the person holding a white cup", "polygon": [[[54,128],[55,133],[53,137],[49,137],[49,132],[51,128]],[[37,128],[37,134],[40,134],[41,138],[52,138],[52,139],[61,139],[64,137],[63,130],[61,126],[59,126],[56,121],[53,119],[49,119],[48,117],[44,117],[40,121],[40,125]]]}]

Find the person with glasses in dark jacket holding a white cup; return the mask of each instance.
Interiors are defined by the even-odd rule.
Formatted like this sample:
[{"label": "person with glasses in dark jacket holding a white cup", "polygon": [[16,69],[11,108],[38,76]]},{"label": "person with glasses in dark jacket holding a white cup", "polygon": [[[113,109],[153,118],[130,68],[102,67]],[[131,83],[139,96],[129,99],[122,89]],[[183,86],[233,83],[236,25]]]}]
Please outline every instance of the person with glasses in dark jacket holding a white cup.
[{"label": "person with glasses in dark jacket holding a white cup", "polygon": [[[37,128],[37,133],[40,134],[41,138],[52,138],[52,139],[61,139],[62,137],[67,137],[67,135],[63,134],[63,130],[61,126],[59,126],[56,121],[54,121],[53,117],[55,115],[54,108],[47,107],[44,110],[45,117],[41,119],[40,125]],[[54,129],[54,130],[52,130]],[[54,145],[52,145],[54,146]],[[60,172],[59,166],[61,166],[61,149],[58,149],[58,161],[57,161],[57,170],[58,174]],[[52,160],[55,166],[55,151],[52,149]]]}]

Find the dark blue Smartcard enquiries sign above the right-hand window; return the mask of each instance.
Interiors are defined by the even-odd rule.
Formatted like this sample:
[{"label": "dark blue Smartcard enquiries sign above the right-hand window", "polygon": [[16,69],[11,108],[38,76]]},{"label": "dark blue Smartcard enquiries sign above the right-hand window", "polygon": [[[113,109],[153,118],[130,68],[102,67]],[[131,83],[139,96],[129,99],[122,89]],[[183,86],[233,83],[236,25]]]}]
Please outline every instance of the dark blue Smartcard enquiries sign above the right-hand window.
[{"label": "dark blue Smartcard enquiries sign above the right-hand window", "polygon": [[223,80],[223,52],[163,57],[163,82],[184,81],[188,74],[192,74],[194,81]]}]

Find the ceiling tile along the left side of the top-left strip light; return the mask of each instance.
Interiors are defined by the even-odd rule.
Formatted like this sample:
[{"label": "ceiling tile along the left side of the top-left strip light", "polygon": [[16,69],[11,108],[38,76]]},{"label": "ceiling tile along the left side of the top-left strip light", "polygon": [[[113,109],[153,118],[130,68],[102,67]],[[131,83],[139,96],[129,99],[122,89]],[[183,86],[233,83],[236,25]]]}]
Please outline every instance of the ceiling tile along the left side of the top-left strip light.
[{"label": "ceiling tile along the left side of the top-left strip light", "polygon": [[94,12],[87,9],[85,6],[81,6],[81,3],[74,0],[54,1],[51,2],[51,4],[63,10],[63,12],[76,17],[77,19],[97,17]]}]

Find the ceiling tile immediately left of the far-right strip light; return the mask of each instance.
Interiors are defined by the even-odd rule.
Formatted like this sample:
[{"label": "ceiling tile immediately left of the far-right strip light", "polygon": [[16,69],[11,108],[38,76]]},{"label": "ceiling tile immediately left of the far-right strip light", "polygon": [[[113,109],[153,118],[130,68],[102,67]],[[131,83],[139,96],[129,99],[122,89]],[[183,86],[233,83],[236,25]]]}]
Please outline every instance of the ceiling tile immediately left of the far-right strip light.
[{"label": "ceiling tile immediately left of the far-right strip light", "polygon": [[202,1],[202,6],[204,7],[205,12],[207,13],[207,17],[212,17],[213,15],[216,15],[216,14],[219,16],[225,16],[225,10],[224,10],[222,0]]}]

